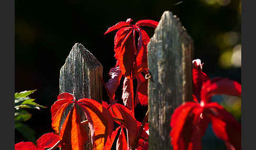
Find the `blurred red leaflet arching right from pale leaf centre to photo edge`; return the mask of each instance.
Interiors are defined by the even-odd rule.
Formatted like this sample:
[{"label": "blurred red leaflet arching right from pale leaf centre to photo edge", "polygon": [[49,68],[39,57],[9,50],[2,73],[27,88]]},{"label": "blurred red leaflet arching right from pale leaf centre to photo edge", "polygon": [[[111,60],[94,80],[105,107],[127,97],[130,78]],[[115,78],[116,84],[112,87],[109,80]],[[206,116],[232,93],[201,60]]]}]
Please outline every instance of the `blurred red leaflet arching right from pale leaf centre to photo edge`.
[{"label": "blurred red leaflet arching right from pale leaf centre to photo edge", "polygon": [[202,101],[206,102],[215,94],[227,94],[241,97],[241,84],[225,78],[208,80],[207,82],[203,83],[201,90]]}]

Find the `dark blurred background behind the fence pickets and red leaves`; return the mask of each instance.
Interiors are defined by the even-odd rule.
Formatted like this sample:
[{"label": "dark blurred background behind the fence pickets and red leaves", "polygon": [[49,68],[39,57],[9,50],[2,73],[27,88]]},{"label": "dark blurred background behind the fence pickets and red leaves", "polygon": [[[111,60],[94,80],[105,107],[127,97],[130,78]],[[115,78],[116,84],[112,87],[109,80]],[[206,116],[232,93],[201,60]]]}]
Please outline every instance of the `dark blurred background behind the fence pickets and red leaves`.
[{"label": "dark blurred background behind the fence pickets and red leaves", "polygon": [[[103,36],[106,29],[127,18],[132,18],[133,24],[141,19],[159,22],[165,10],[180,18],[194,40],[194,59],[204,62],[208,76],[241,83],[241,0],[15,0],[15,92],[37,89],[31,97],[47,106],[28,110],[33,116],[25,124],[36,132],[35,137],[52,132],[50,108],[59,94],[60,69],[76,42],[102,63],[107,81],[116,60],[115,33]],[[154,30],[144,29],[152,37]],[[240,98],[218,95],[213,99],[241,120]],[[26,139],[15,131],[15,143],[21,141]],[[203,137],[203,146],[225,149],[211,127]]]}]

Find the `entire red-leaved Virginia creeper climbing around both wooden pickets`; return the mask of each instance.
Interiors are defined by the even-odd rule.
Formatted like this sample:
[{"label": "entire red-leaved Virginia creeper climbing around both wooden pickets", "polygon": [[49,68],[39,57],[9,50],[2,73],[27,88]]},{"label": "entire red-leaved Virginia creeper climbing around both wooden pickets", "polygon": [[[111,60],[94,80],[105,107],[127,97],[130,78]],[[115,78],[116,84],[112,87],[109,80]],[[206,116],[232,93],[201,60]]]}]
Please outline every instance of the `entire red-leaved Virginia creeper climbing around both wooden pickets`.
[{"label": "entire red-leaved Virginia creeper climbing around both wooden pickets", "polygon": [[[116,66],[110,69],[110,80],[103,84],[109,100],[101,103],[92,99],[76,100],[71,93],[61,93],[52,105],[52,128],[54,133],[40,137],[36,144],[20,142],[15,149],[84,149],[85,143],[91,141],[93,149],[147,149],[149,123],[147,114],[142,122],[135,118],[134,108],[137,104],[147,106],[147,43],[150,37],[142,26],[156,28],[154,20],[140,20],[131,24],[127,19],[107,29],[105,34],[116,31],[114,52]],[[136,38],[136,32],[139,38]],[[105,35],[104,34],[104,35]],[[135,42],[137,40],[137,42]],[[137,43],[137,44],[136,44]],[[231,113],[216,102],[211,102],[214,94],[241,96],[241,84],[238,82],[215,78],[210,79],[202,72],[199,59],[193,60],[193,100],[179,106],[171,117],[171,144],[174,150],[202,149],[201,137],[206,127],[212,123],[216,136],[221,138],[228,149],[241,149],[241,125]],[[123,80],[123,83],[120,82]],[[137,85],[134,87],[134,80]],[[115,97],[117,87],[122,86],[122,101]],[[134,88],[136,92],[134,93]],[[65,121],[61,124],[67,107]],[[83,110],[86,121],[81,122],[77,109]],[[88,129],[86,129],[86,127]],[[90,134],[87,134],[89,130]],[[116,143],[116,145],[114,145]]]}]

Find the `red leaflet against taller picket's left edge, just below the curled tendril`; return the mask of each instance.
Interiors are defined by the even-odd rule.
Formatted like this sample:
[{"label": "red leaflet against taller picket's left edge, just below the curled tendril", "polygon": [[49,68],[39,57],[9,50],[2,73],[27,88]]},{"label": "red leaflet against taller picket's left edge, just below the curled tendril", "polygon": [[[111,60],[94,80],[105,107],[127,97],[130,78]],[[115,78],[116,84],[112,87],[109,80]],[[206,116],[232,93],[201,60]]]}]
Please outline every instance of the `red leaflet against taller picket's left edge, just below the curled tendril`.
[{"label": "red leaflet against taller picket's left edge, just below the curled tendril", "polygon": [[136,89],[136,97],[135,97],[135,103],[134,107],[138,102],[141,103],[141,105],[147,105],[147,80],[143,77],[142,74],[139,74],[136,76],[137,79],[137,89]]}]

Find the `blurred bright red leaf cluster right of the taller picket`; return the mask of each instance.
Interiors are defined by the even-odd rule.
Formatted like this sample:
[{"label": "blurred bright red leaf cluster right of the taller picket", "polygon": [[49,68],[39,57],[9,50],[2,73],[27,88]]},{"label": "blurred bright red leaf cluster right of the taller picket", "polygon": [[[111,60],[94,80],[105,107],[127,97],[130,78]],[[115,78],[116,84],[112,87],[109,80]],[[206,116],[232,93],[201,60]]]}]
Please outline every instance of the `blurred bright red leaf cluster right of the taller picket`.
[{"label": "blurred bright red leaf cluster right of the taller picket", "polygon": [[179,106],[172,114],[170,132],[174,150],[202,149],[201,138],[209,123],[213,132],[223,140],[228,149],[241,149],[241,124],[216,102],[215,94],[241,97],[241,84],[224,78],[210,80],[202,72],[201,60],[193,61],[193,100]]}]

